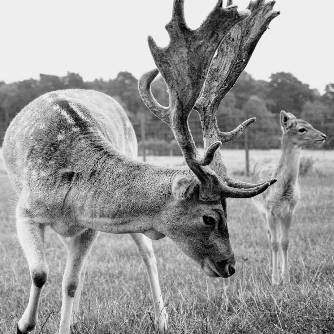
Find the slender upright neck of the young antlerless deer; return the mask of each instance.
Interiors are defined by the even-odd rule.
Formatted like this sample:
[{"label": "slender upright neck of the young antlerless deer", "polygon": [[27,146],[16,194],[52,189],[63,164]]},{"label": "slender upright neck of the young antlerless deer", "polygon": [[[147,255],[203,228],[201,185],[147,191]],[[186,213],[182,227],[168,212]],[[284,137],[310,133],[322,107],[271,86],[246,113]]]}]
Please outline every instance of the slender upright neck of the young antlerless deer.
[{"label": "slender upright neck of the young antlerless deer", "polygon": [[296,183],[299,174],[301,147],[294,145],[283,135],[282,138],[282,155],[277,168],[277,183]]}]

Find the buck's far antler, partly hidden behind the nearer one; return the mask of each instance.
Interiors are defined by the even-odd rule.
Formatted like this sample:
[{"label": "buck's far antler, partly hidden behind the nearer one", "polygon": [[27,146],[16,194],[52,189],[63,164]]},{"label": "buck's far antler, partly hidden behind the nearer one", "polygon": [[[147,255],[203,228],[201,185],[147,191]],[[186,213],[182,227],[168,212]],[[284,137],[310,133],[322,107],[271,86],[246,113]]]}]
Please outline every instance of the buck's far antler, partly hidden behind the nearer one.
[{"label": "buck's far antler, partly hidden behind the nearer one", "polygon": [[[229,0],[227,4],[232,5],[232,1]],[[204,147],[210,146],[217,140],[222,143],[229,142],[255,122],[255,118],[251,118],[231,132],[221,132],[217,126],[216,111],[221,100],[246,67],[269,23],[280,14],[279,11],[272,10],[274,4],[275,1],[267,3],[264,0],[251,1],[247,7],[251,15],[231,29],[217,50],[217,56],[212,61],[205,81],[203,94],[194,107],[201,117]],[[247,189],[258,186],[228,176],[219,151],[215,154],[211,167],[224,183],[233,188]]]}]

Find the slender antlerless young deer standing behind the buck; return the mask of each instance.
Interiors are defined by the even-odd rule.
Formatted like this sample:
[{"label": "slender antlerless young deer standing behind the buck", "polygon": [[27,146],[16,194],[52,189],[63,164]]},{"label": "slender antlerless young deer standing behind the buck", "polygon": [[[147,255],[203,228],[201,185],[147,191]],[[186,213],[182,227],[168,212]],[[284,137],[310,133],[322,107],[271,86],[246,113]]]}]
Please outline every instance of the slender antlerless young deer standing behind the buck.
[{"label": "slender antlerless young deer standing behind the buck", "polygon": [[[282,280],[290,284],[288,263],[289,229],[295,207],[299,199],[299,162],[303,146],[322,144],[326,135],[314,129],[304,120],[298,120],[293,114],[281,111],[282,155],[279,161],[265,159],[254,167],[253,180],[261,177],[276,177],[273,187],[253,201],[262,218],[267,223],[270,244],[271,282],[280,284],[278,254],[282,248]],[[281,229],[281,239],[279,238]]]}]

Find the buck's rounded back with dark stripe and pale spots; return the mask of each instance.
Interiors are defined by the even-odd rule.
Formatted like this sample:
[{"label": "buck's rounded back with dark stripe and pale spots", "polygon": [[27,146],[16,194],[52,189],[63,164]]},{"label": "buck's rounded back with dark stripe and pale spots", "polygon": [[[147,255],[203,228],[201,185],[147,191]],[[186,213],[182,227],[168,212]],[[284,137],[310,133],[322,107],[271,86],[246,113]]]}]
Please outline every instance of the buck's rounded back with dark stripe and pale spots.
[{"label": "buck's rounded back with dark stripe and pale spots", "polygon": [[[65,177],[89,168],[104,147],[137,156],[133,127],[123,108],[95,91],[55,91],[29,103],[12,121],[4,160],[20,190],[33,178]],[[83,159],[75,159],[78,155]]]}]

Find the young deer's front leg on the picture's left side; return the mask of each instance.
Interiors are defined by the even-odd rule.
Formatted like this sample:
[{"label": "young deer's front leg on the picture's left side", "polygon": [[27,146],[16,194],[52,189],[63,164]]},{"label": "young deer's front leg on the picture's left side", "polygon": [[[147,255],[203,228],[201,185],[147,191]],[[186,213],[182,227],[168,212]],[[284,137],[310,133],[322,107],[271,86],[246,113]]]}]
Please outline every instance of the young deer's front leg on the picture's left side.
[{"label": "young deer's front leg on the picture's left side", "polygon": [[271,282],[273,285],[280,284],[280,274],[278,270],[278,256],[280,249],[279,235],[277,232],[278,219],[272,214],[268,214],[268,231],[270,234],[270,248],[272,261]]}]

